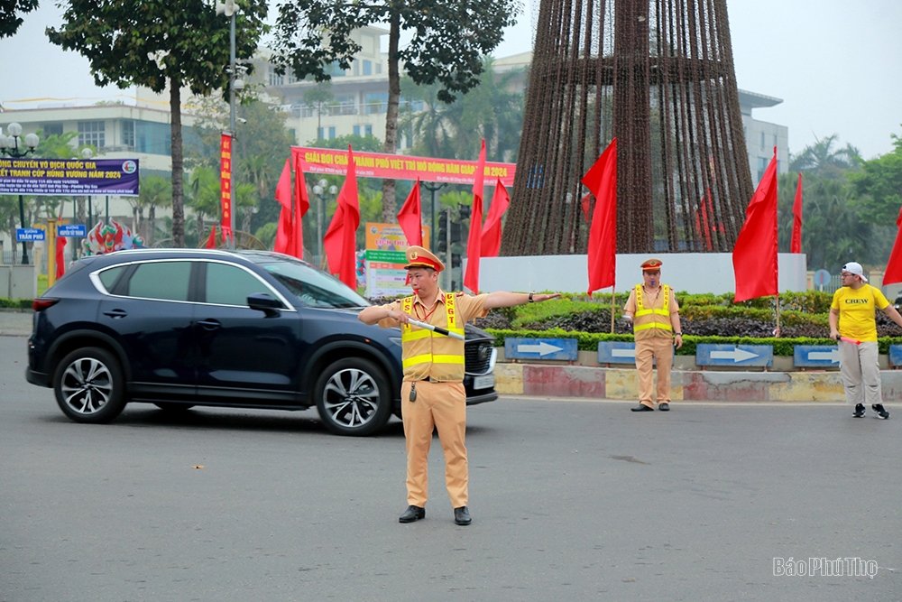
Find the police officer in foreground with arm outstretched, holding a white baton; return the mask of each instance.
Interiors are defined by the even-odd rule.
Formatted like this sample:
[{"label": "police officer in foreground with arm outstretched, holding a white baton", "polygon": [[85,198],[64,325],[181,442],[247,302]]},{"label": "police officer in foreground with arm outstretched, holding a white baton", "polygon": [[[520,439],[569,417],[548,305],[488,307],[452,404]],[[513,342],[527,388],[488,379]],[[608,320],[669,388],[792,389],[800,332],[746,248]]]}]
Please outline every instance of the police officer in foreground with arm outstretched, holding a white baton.
[{"label": "police officer in foreground with arm outstretched, holding a white baton", "polygon": [[445,452],[445,482],[454,507],[454,522],[470,524],[464,443],[464,341],[420,329],[411,325],[410,320],[463,335],[468,320],[484,316],[492,308],[547,301],[560,295],[504,291],[476,296],[446,293],[438,287],[438,274],[445,269],[445,264],[435,255],[421,246],[411,246],[407,261],[405,267],[413,296],[360,312],[360,321],[365,324],[401,329],[404,382],[400,396],[407,441],[408,508],[399,521],[413,523],[426,517],[429,445],[433,428],[437,428]]}]

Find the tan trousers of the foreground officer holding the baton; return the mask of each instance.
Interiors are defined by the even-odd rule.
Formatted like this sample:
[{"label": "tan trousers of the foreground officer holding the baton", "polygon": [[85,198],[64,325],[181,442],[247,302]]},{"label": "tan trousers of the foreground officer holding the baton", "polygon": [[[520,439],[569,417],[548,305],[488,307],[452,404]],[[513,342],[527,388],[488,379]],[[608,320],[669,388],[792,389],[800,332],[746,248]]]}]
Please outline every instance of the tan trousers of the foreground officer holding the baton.
[{"label": "tan trousers of the foreground officer holding the baton", "polygon": [[463,383],[417,382],[417,401],[410,401],[410,384],[401,383],[401,418],[407,441],[407,503],[426,506],[429,493],[428,459],[433,427],[445,452],[445,484],[451,505],[467,505],[466,392]]}]

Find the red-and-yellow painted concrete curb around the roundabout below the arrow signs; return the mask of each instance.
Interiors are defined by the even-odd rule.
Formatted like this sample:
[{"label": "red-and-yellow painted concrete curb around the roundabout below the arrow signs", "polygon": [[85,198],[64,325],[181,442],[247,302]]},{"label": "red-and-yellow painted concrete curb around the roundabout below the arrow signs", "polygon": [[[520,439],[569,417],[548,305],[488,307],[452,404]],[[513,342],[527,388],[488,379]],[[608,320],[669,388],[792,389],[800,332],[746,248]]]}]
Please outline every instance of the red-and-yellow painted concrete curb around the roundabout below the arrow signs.
[{"label": "red-and-yellow painted concrete curb around the roundabout below the arrow signs", "polygon": [[[498,394],[638,398],[634,368],[497,364],[494,373]],[[902,371],[882,370],[880,380],[884,401],[902,399]],[[674,370],[671,397],[675,402],[845,402],[838,372]]]}]

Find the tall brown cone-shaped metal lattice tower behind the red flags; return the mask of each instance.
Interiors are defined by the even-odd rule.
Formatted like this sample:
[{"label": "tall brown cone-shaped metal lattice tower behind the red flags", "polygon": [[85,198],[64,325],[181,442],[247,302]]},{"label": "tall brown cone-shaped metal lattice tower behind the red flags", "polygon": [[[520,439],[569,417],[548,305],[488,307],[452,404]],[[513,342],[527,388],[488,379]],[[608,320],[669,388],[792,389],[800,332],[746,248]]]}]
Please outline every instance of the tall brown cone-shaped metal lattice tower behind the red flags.
[{"label": "tall brown cone-shaped metal lattice tower behind the red flags", "polygon": [[726,0],[541,0],[502,255],[585,252],[613,136],[619,253],[732,250],[753,186]]}]

